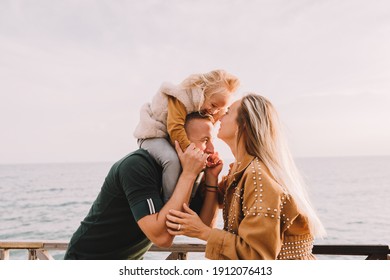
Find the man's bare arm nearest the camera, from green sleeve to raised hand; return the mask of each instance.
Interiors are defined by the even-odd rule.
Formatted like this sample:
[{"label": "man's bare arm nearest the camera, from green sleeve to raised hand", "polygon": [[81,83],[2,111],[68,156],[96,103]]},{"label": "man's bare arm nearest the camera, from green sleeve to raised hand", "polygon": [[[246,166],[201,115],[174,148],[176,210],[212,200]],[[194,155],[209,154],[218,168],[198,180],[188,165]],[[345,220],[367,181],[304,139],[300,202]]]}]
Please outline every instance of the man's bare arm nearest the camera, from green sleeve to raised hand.
[{"label": "man's bare arm nearest the camera, from green sleeve to raised hand", "polygon": [[195,145],[188,146],[183,153],[178,142],[175,142],[183,172],[176,184],[176,188],[169,201],[163,206],[160,212],[148,215],[138,220],[138,225],[150,241],[159,247],[170,247],[174,236],[170,235],[166,228],[166,216],[170,209],[182,210],[183,203],[188,203],[192,187],[196,177],[205,167],[207,154],[194,149]]}]

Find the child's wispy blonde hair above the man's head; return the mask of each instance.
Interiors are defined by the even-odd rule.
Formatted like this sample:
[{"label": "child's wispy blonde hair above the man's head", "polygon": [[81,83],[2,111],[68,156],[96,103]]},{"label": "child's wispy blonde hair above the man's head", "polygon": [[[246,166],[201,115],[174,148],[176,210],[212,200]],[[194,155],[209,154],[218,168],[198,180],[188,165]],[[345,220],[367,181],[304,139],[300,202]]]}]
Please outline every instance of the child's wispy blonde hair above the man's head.
[{"label": "child's wispy blonde hair above the man's head", "polygon": [[181,83],[184,89],[192,90],[193,88],[199,88],[203,92],[205,100],[216,93],[230,95],[237,90],[239,85],[239,79],[225,70],[193,74]]}]

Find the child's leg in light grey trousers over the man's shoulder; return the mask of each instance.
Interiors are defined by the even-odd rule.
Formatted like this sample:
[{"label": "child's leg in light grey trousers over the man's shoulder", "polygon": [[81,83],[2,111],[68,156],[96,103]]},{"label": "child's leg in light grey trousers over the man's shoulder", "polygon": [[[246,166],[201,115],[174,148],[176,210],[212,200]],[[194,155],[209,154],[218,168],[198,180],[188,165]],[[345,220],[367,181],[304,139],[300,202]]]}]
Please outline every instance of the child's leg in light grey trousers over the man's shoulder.
[{"label": "child's leg in light grey trousers over the man's shoulder", "polygon": [[181,173],[180,160],[176,150],[165,138],[150,138],[139,141],[140,148],[145,149],[163,168],[163,198],[167,202],[176,187]]}]

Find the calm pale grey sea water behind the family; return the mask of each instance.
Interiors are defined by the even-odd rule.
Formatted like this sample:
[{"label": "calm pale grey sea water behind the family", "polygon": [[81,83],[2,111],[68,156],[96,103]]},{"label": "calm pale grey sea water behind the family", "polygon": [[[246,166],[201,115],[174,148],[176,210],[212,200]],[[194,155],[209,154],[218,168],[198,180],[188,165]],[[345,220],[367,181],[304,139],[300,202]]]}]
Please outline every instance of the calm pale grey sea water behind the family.
[{"label": "calm pale grey sea water behind the family", "polygon": [[[316,244],[390,245],[390,157],[304,158],[297,163],[328,233]],[[0,165],[0,240],[69,241],[110,166]],[[197,240],[179,237],[176,242]],[[63,254],[53,252],[55,259]],[[165,255],[148,253],[145,259]],[[203,258],[194,253],[189,257]],[[26,252],[11,251],[11,258],[25,259]]]}]

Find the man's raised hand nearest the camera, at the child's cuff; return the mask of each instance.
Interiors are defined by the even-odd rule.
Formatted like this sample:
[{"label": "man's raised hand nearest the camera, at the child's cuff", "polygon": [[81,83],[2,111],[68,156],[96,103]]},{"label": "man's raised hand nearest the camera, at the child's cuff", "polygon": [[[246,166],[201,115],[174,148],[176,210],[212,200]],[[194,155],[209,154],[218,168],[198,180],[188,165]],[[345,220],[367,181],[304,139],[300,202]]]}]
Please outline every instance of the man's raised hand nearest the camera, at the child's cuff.
[{"label": "man's raised hand nearest the camera, at the child's cuff", "polygon": [[183,168],[183,174],[198,176],[206,167],[208,154],[196,148],[194,143],[191,143],[184,153],[177,141],[175,141],[175,148]]}]

